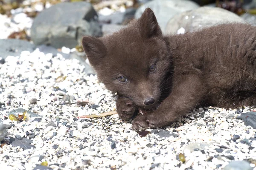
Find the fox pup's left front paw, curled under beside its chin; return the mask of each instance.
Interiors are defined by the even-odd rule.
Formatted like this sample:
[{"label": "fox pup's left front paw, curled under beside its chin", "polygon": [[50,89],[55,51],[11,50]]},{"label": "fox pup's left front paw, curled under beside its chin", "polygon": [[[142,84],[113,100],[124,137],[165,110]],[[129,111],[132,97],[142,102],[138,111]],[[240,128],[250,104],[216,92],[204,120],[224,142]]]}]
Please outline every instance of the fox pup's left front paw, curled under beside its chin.
[{"label": "fox pup's left front paw, curled under beside its chin", "polygon": [[124,121],[130,119],[136,110],[137,108],[131,99],[117,99],[116,111],[120,119]]}]

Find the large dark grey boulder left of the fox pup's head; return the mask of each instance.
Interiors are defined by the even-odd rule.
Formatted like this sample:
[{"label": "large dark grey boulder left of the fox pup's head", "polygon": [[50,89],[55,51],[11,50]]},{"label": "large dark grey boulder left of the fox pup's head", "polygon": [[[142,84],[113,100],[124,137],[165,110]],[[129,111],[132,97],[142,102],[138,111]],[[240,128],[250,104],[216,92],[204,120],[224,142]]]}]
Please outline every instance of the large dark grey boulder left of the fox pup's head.
[{"label": "large dark grey boulder left of the fox pup's head", "polygon": [[31,39],[35,45],[74,48],[84,35],[102,36],[97,18],[90,3],[58,3],[35,17]]}]

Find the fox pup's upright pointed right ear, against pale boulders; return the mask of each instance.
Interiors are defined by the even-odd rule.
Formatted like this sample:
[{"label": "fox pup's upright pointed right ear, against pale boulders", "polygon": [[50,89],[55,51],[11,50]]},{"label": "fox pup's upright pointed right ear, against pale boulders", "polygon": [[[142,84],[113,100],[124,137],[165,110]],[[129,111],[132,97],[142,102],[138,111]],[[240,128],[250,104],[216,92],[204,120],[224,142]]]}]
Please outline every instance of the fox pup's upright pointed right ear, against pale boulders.
[{"label": "fox pup's upright pointed right ear, against pale boulders", "polygon": [[157,18],[150,8],[146,8],[138,20],[140,24],[140,34],[142,37],[151,38],[162,36],[162,31],[157,23]]}]

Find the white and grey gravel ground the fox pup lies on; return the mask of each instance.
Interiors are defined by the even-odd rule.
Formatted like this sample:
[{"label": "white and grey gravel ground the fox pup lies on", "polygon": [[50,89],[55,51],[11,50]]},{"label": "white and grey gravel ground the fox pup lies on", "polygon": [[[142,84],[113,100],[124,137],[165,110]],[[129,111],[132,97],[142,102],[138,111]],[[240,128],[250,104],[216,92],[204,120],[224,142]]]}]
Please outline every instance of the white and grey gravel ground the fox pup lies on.
[{"label": "white and grey gravel ground the fox pup lies on", "polygon": [[[0,38],[30,22],[2,22]],[[2,60],[0,122],[9,143],[0,147],[1,169],[256,170],[256,129],[240,119],[254,108],[197,108],[171,126],[138,134],[116,114],[77,119],[115,110],[113,95],[84,68],[77,59],[38,49]],[[88,104],[67,104],[81,101]],[[8,118],[24,111],[17,109],[27,111],[25,121]]]}]

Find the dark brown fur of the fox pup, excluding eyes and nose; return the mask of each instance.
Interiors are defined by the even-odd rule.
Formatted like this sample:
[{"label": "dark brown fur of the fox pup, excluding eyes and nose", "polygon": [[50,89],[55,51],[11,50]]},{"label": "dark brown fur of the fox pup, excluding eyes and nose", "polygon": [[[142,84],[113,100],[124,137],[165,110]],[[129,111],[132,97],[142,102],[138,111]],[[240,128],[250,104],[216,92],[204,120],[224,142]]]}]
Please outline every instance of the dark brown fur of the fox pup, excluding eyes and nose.
[{"label": "dark brown fur of the fox pup, excluding eyes and nose", "polygon": [[[135,130],[168,125],[196,105],[256,105],[256,27],[230,23],[163,36],[151,9],[112,35],[84,37],[84,51],[100,81],[118,93],[122,120],[138,108]],[[156,70],[149,67],[156,64]],[[119,82],[124,76],[127,82]],[[145,99],[156,102],[147,106]]]}]

